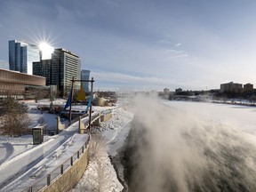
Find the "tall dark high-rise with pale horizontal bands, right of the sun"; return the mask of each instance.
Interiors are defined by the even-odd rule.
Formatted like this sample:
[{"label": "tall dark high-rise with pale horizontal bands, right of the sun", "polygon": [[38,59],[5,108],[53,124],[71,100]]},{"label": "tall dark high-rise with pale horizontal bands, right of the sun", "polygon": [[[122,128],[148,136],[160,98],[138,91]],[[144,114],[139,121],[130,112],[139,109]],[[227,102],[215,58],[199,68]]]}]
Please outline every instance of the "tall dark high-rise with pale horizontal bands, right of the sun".
[{"label": "tall dark high-rise with pale horizontal bands, right of the sun", "polygon": [[[81,60],[73,52],[65,49],[55,49],[52,53],[52,84],[58,86],[60,97],[68,96],[71,80],[81,77]],[[74,84],[74,89],[80,89],[80,82]]]}]

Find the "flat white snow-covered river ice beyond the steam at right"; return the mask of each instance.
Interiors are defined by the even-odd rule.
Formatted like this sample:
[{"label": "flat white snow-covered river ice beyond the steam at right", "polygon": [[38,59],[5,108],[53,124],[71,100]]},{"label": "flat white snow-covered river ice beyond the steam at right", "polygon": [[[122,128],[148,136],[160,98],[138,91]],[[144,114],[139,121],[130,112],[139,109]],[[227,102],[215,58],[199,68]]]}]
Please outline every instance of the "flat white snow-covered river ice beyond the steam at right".
[{"label": "flat white snow-covered river ice beyond the steam at right", "polygon": [[221,122],[244,132],[256,132],[256,108],[243,105],[216,104],[189,101],[162,101],[165,105],[182,110],[189,116]]}]

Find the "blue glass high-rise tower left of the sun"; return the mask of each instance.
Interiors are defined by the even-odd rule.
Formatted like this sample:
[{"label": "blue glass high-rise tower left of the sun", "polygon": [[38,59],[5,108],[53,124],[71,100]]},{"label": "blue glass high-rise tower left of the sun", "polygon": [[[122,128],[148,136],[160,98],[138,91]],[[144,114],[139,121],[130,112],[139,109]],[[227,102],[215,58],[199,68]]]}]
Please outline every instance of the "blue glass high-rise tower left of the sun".
[{"label": "blue glass high-rise tower left of the sun", "polygon": [[9,68],[21,73],[33,74],[33,62],[39,61],[39,48],[18,40],[9,41]]}]

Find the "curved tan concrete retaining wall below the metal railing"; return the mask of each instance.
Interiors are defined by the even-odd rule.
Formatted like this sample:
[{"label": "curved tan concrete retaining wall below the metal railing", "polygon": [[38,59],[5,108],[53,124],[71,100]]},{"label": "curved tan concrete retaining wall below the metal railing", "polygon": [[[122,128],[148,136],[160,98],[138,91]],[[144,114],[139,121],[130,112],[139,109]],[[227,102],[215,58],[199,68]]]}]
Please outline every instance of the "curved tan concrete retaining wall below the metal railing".
[{"label": "curved tan concrete retaining wall below the metal railing", "polygon": [[68,169],[67,172],[64,172],[57,180],[54,180],[50,186],[44,188],[44,192],[52,192],[52,191],[69,191],[74,188],[79,180],[81,180],[87,164],[89,162],[89,145],[86,149],[84,149],[84,154],[81,154],[79,159],[73,166]]}]

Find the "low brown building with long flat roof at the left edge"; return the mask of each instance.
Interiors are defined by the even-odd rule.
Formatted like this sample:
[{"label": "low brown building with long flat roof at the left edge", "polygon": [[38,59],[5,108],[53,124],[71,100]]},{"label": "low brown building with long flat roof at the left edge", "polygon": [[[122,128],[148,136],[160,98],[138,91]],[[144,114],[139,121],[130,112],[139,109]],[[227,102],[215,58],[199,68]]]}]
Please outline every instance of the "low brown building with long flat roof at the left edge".
[{"label": "low brown building with long flat roof at the left edge", "polygon": [[29,86],[45,86],[45,77],[0,68],[0,98],[10,96],[20,100],[29,99],[30,96],[26,94]]}]

